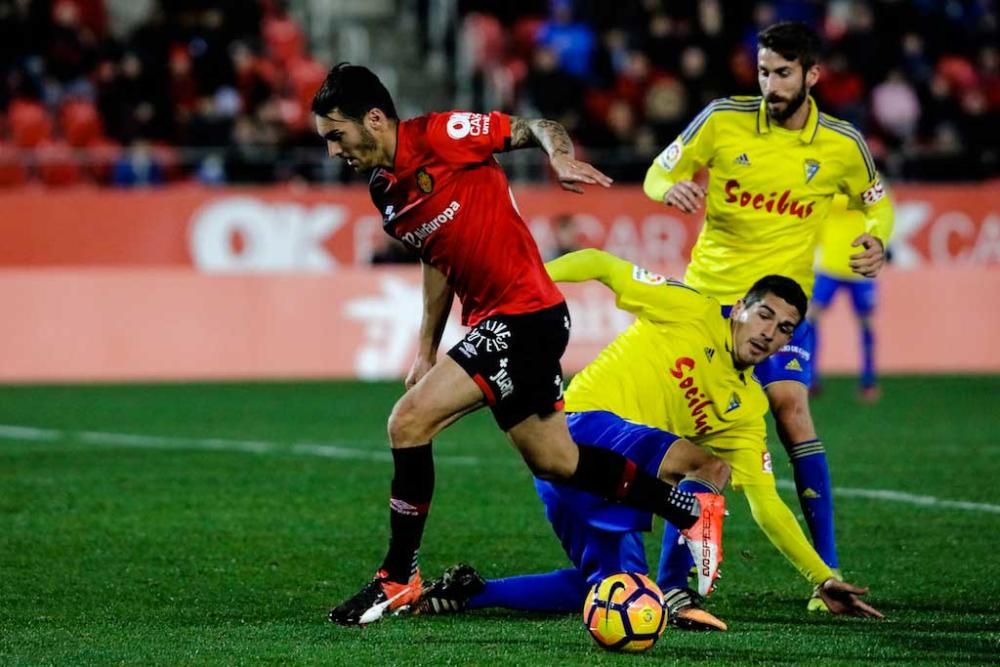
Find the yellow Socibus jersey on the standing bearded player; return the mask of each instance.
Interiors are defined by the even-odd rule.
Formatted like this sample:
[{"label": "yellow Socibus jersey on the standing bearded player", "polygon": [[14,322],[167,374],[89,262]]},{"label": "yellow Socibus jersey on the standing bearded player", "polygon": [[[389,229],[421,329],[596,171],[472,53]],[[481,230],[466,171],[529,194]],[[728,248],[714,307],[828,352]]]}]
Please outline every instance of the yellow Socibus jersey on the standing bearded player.
[{"label": "yellow Socibus jersey on the standing bearded player", "polygon": [[674,183],[709,168],[705,224],[684,282],[724,304],[771,273],[811,294],[819,226],[838,193],[888,242],[892,205],[864,139],[808,103],[805,127],[793,131],[771,124],[761,97],[715,100],[647,172],[646,195],[663,201]]}]

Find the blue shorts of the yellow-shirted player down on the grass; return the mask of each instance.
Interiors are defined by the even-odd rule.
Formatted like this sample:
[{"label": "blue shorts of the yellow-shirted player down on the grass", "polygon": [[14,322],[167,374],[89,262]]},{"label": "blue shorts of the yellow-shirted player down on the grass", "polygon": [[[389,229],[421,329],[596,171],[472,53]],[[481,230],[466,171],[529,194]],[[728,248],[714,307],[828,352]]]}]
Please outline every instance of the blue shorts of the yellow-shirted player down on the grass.
[{"label": "blue shorts of the yellow-shirted player down on the grass", "polygon": [[[673,433],[610,412],[571,413],[567,423],[577,444],[618,452],[654,477],[677,440]],[[652,528],[652,514],[537,478],[535,489],[563,549],[589,583],[617,572],[649,571],[641,531]]]}]

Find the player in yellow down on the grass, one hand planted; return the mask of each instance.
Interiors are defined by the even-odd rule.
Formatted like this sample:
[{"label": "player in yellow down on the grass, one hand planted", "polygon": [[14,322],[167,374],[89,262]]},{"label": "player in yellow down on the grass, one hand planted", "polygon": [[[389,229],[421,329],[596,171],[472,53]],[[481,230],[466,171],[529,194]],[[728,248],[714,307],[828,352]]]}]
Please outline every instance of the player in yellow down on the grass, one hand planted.
[{"label": "player in yellow down on the grass, one hand planted", "polygon": [[[775,489],[766,446],[767,398],[753,366],[791,338],[805,316],[795,281],[766,276],[724,317],[718,301],[599,250],[546,264],[557,282],[599,280],[636,321],[572,381],[566,391],[575,442],[607,447],[679,488],[718,493],[730,470],[754,519],[837,613],[880,614],[863,589],[838,581],[809,545]],[[468,565],[449,569],[425,589],[423,613],[506,607],[578,611],[590,586],[611,574],[646,572],[642,531],[649,512],[617,506],[564,484],[536,479],[546,515],[572,568],[484,580]],[[665,524],[657,583],[671,623],[725,630],[687,588],[688,563],[678,531]],[[701,593],[705,593],[702,590]]]}]

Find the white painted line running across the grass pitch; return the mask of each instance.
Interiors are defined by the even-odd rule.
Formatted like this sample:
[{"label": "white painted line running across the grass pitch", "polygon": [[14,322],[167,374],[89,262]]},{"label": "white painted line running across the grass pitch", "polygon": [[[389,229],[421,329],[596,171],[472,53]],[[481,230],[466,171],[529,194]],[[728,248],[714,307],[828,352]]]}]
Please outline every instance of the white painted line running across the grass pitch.
[{"label": "white painted line running across the grass pitch", "polygon": [[[54,442],[66,440],[102,447],[123,447],[135,449],[195,449],[205,451],[247,452],[251,454],[290,452],[300,456],[320,456],[323,458],[373,461],[377,463],[392,462],[392,454],[388,451],[344,447],[342,445],[329,443],[299,442],[292,443],[290,447],[284,448],[279,443],[259,440],[180,438],[158,435],[141,435],[135,433],[106,433],[102,431],[73,432],[60,431],[58,429],[34,428],[31,426],[15,426],[9,424],[0,424],[0,441],[2,440],[21,442]],[[438,463],[461,466],[492,465],[495,463],[494,461],[487,461],[475,456],[452,456],[448,454],[435,454],[434,461]],[[511,461],[514,461],[514,459],[511,459]],[[783,489],[795,488],[795,484],[793,482],[785,479],[777,480],[777,484]],[[847,498],[872,498],[875,500],[888,500],[890,502],[916,505],[919,507],[942,507],[948,509],[968,510],[972,512],[986,512],[988,514],[1000,514],[1000,505],[969,502],[966,500],[946,500],[935,496],[916,495],[912,493],[905,493],[903,491],[892,491],[889,489],[855,489],[850,487],[835,487],[833,492],[838,496]]]}]

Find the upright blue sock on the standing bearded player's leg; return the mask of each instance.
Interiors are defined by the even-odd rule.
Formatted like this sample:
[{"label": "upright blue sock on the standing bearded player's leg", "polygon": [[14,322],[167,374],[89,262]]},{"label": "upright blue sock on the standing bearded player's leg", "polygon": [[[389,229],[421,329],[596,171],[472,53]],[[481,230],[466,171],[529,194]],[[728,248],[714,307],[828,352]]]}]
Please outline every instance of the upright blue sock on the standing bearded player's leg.
[{"label": "upright blue sock on the standing bearded player's leg", "polygon": [[820,440],[807,440],[788,448],[795,471],[795,489],[802,514],[813,538],[813,548],[832,568],[837,564],[837,541],[833,534],[833,489],[826,450]]}]

